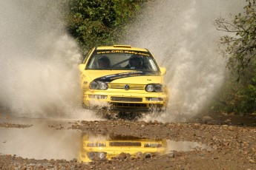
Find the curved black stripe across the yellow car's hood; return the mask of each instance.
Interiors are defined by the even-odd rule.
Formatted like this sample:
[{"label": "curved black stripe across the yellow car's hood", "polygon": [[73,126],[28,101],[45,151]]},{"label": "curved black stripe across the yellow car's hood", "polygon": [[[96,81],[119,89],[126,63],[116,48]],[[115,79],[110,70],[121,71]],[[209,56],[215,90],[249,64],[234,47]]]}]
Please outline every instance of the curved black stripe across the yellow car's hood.
[{"label": "curved black stripe across the yellow car's hood", "polygon": [[146,72],[122,72],[114,75],[105,75],[100,78],[96,78],[94,81],[103,81],[103,82],[111,82],[119,78],[128,78],[128,77],[136,77],[148,75]]}]

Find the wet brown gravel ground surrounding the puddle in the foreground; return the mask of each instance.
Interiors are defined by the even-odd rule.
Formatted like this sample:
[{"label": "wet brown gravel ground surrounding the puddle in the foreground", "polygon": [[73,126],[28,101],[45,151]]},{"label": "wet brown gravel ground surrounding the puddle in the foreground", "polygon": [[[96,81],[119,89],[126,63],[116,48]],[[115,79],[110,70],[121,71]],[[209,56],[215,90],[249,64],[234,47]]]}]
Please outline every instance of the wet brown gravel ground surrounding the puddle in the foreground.
[{"label": "wet brown gravel ground surrounding the puddle in the foreground", "polygon": [[[78,163],[77,160],[34,160],[0,154],[0,169],[256,169],[255,117],[248,119],[250,123],[245,120],[241,123],[239,118],[224,115],[218,120],[206,116],[200,120],[202,121],[194,123],[81,120],[70,122],[69,129],[102,135],[131,135],[205,143],[211,146],[211,150],[174,151],[137,158],[119,155],[112,160],[93,163]],[[1,123],[0,126],[29,129],[30,125]],[[48,128],[56,127],[49,125]]]}]

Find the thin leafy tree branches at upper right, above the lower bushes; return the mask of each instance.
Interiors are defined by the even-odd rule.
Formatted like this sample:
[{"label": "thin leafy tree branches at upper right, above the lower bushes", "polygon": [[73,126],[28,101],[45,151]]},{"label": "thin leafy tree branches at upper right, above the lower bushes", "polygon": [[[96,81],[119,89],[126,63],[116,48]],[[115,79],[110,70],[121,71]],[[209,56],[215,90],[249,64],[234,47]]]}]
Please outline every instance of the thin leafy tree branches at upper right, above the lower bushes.
[{"label": "thin leafy tree branches at upper right, above the lower bushes", "polygon": [[235,16],[233,21],[226,21],[225,18],[216,20],[217,30],[232,33],[223,36],[220,44],[226,46],[226,54],[229,55],[227,67],[237,72],[239,77],[244,75],[245,69],[256,56],[256,2],[246,1],[245,11]]}]

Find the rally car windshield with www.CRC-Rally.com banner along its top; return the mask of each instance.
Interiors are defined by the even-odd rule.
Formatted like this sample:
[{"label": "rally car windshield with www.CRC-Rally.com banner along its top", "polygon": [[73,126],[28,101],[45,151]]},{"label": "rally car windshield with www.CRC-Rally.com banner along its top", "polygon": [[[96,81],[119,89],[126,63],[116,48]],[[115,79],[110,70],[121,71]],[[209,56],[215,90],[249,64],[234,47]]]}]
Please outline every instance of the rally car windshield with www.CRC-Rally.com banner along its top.
[{"label": "rally car windshield with www.CRC-Rally.com banner along its top", "polygon": [[159,72],[157,63],[149,52],[131,50],[96,50],[86,69],[116,69]]}]

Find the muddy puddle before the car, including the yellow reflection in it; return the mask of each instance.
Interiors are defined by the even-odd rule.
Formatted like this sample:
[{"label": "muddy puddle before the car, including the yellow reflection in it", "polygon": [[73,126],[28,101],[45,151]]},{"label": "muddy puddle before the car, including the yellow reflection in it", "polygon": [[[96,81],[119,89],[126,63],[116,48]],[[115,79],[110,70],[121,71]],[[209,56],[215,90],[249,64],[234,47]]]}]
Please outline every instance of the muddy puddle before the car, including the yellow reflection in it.
[{"label": "muddy puddle before the car, including the yellow reflection in it", "polygon": [[92,135],[68,129],[67,120],[30,119],[0,114],[0,123],[33,125],[27,128],[0,128],[0,154],[42,159],[78,159],[80,162],[111,160],[121,153],[131,157],[151,157],[171,151],[211,149],[188,141],[141,139],[132,136]]}]

